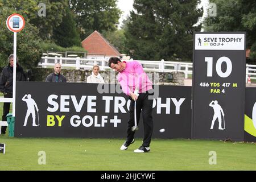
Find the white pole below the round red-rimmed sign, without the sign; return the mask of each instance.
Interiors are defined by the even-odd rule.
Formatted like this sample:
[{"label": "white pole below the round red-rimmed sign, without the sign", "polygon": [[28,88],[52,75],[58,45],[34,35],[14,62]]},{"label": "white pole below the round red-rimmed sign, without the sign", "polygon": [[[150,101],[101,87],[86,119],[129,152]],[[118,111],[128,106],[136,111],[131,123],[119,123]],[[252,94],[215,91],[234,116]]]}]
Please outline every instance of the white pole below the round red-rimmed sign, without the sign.
[{"label": "white pole below the round red-rimmed sign, without the sign", "polygon": [[15,117],[15,96],[16,96],[16,41],[17,32],[14,32],[13,39],[13,117]]}]

